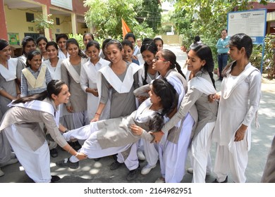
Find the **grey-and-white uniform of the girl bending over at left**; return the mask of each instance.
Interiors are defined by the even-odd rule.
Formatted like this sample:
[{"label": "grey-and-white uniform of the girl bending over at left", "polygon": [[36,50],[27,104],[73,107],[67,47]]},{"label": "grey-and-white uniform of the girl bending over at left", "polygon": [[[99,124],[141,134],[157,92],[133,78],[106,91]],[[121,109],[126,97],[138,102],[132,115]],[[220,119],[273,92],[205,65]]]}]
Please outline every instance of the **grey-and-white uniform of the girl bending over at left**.
[{"label": "grey-and-white uniform of the girl bending over at left", "polygon": [[59,146],[65,146],[67,142],[57,126],[59,109],[49,98],[11,104],[11,107],[2,119],[0,132],[6,133],[20,164],[34,182],[51,182],[49,147],[39,122],[44,122]]}]

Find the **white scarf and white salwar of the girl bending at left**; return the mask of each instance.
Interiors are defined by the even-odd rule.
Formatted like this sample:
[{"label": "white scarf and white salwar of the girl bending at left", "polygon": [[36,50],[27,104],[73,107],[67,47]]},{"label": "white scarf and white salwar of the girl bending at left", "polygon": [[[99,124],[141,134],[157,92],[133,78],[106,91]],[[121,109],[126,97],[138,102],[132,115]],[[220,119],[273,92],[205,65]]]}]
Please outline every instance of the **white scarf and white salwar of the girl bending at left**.
[{"label": "white scarf and white salwar of the girl bending at left", "polygon": [[[42,110],[51,113],[54,116],[54,108],[46,102],[32,101],[30,103],[11,104],[11,106],[20,106],[22,108],[30,108],[32,110]],[[59,111],[55,116],[56,125],[59,125]],[[13,151],[16,153],[21,165],[23,165],[26,174],[36,183],[49,183],[51,182],[51,171],[49,167],[50,155],[49,146],[46,139],[42,146],[33,149],[25,138],[20,134],[26,129],[41,129],[39,122],[28,124],[13,124],[4,129],[4,132],[10,142]]]}]

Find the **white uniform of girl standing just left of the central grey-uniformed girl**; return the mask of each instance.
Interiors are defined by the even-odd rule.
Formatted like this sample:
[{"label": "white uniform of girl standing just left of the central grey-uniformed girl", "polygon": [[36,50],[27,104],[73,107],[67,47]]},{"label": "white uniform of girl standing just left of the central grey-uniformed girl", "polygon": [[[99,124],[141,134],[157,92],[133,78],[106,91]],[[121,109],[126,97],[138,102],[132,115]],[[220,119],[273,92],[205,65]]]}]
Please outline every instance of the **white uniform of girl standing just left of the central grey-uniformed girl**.
[{"label": "white uniform of girl standing just left of the central grey-uniformed girl", "polygon": [[[84,65],[82,65],[82,69],[80,70],[80,85],[83,91],[86,91],[88,87],[91,89],[98,89],[97,87],[97,74],[98,70],[104,68],[104,66],[108,66],[110,64],[109,61],[106,61],[102,58],[94,65],[91,61],[87,61]],[[92,120],[94,114],[97,112],[97,107],[99,104],[99,96],[94,96],[92,93],[87,93],[87,119]],[[100,120],[106,119],[109,117],[109,106],[105,106],[102,115],[100,116]]]}]

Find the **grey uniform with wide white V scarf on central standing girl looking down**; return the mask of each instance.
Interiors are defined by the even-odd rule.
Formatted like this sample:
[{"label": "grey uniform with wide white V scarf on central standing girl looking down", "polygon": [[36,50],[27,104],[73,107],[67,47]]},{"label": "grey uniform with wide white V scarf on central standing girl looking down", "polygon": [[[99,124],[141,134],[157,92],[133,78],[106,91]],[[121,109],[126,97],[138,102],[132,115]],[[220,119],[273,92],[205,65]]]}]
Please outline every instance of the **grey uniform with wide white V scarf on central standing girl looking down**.
[{"label": "grey uniform with wide white V scarf on central standing girl looking down", "polygon": [[[127,69],[121,75],[116,75],[110,66],[99,70],[98,89],[100,103],[110,100],[110,118],[130,115],[135,109],[135,95],[133,90],[138,88],[138,67],[135,63],[127,63]],[[130,156],[123,158],[118,153],[118,163],[125,163],[128,170],[138,168],[138,155],[136,144],[130,148]]]}]

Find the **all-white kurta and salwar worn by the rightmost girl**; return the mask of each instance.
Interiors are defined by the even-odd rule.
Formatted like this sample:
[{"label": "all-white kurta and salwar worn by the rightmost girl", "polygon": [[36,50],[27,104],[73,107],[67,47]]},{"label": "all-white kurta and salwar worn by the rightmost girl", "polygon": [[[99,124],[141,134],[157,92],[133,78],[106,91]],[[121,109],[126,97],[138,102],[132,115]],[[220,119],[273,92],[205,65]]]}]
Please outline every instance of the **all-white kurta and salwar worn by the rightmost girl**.
[{"label": "all-white kurta and salwar worn by the rightmost girl", "polygon": [[[233,182],[246,181],[245,169],[251,143],[250,125],[259,107],[261,97],[261,74],[250,63],[238,76],[224,77],[221,82],[221,98],[213,132],[217,142],[214,173],[216,180],[223,182],[231,171]],[[241,125],[247,126],[242,141],[234,141]],[[256,125],[258,126],[258,125]]]}]

